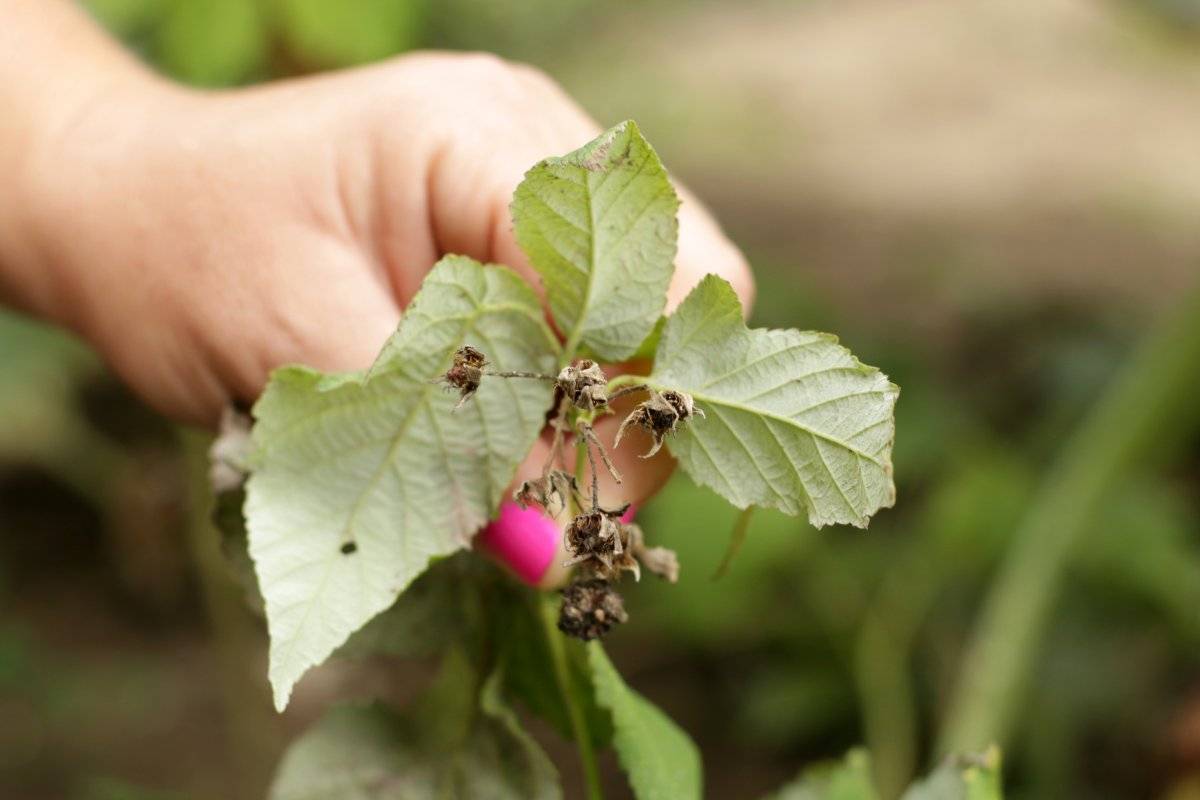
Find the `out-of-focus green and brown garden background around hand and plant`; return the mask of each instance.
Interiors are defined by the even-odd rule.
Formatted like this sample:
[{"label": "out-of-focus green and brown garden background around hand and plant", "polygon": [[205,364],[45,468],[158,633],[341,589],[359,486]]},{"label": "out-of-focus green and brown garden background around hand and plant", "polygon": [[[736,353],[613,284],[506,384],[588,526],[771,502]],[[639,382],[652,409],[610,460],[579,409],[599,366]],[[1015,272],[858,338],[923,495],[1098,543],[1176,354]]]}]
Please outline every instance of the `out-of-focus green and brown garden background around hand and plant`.
[{"label": "out-of-focus green and brown garden background around hand and plant", "polygon": [[[758,513],[714,582],[732,509],[677,477],[642,512],[683,578],[631,593],[611,650],[710,796],[858,742],[902,782],[1012,658],[1022,691],[966,702],[1010,796],[1200,798],[1200,311],[1163,321],[1200,266],[1200,2],[85,5],[199,85],[425,47],[536,64],[706,198],[757,324],[836,331],[904,387],[869,533]],[[409,691],[341,663],[270,711],[204,446],[0,312],[0,795],[258,798],[329,698]]]}]

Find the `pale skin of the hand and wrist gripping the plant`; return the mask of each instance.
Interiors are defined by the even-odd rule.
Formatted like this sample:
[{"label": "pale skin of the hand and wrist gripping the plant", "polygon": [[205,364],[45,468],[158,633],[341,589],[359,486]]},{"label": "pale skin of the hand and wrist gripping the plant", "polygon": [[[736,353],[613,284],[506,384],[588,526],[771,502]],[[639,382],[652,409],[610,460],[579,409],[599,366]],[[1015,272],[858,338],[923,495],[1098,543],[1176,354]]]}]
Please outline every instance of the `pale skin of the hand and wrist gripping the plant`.
[{"label": "pale skin of the hand and wrist gripping the plant", "polygon": [[[146,403],[215,426],[275,367],[368,366],[439,255],[539,282],[508,204],[598,124],[485,54],[202,92],[148,71],[64,0],[0,0],[0,300],[73,330]],[[668,306],[738,249],[686,191]],[[605,441],[619,419],[598,426]],[[610,504],[670,461],[617,455]],[[544,446],[521,475],[535,474]],[[611,498],[611,499],[608,499]]]}]

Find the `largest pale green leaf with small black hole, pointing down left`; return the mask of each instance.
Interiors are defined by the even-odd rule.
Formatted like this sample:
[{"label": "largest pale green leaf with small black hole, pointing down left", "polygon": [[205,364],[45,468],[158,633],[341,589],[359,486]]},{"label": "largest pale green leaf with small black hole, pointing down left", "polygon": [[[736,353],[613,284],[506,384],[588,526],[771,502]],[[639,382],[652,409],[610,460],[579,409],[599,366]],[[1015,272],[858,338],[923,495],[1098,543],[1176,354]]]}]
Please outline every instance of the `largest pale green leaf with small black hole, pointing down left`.
[{"label": "largest pale green leaf with small black hole, pointing down left", "polygon": [[448,257],[368,377],[284,367],[254,407],[246,522],[278,709],[432,559],[468,546],[541,429],[540,381],[485,380],[451,413],[456,397],[434,381],[464,342],[497,369],[556,365],[533,290]]}]

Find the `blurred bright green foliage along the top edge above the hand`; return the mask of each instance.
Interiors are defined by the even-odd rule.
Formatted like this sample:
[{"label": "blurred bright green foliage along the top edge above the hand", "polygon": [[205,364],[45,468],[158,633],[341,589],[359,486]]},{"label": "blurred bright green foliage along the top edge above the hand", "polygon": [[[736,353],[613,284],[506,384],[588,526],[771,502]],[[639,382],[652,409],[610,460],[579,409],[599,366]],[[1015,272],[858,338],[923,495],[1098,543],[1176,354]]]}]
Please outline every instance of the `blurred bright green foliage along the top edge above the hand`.
[{"label": "blurred bright green foliage along the top edge above the hand", "polygon": [[199,86],[349,67],[416,47],[536,58],[595,0],[80,0],[166,74]]}]

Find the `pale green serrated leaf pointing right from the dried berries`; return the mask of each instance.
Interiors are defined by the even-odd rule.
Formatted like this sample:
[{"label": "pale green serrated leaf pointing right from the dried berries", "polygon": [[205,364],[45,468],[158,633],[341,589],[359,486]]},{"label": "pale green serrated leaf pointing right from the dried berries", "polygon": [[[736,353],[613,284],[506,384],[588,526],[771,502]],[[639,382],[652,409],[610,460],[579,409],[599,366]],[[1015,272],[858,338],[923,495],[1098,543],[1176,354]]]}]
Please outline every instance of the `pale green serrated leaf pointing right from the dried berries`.
[{"label": "pale green serrated leaf pointing right from the dried berries", "polygon": [[895,500],[900,390],[828,333],[748,329],[733,288],[716,276],[667,320],[649,383],[688,392],[704,411],[671,452],[739,509],[806,509],[817,528],[865,528]]}]

